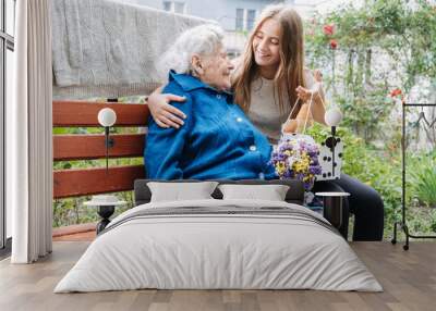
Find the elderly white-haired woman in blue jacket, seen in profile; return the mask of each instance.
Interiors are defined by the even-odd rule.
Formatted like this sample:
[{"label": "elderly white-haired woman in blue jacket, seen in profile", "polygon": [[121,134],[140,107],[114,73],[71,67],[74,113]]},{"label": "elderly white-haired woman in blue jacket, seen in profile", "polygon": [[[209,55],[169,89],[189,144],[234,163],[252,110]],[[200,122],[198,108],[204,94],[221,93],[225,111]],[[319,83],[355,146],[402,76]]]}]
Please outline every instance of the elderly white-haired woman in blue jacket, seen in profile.
[{"label": "elderly white-haired woman in blue jacket, seen in profile", "polygon": [[[149,178],[274,178],[271,146],[229,92],[233,69],[218,26],[189,29],[164,57],[171,69],[164,92],[186,98],[171,104],[186,115],[180,129],[149,117],[144,162]],[[169,64],[169,65],[168,65]]]}]

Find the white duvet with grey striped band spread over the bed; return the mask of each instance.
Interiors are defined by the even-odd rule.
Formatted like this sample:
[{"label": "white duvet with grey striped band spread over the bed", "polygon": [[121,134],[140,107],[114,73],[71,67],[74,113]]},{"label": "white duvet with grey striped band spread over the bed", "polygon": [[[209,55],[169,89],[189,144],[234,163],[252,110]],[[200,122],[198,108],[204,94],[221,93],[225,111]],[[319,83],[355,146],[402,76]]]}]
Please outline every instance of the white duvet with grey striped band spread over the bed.
[{"label": "white duvet with grey striped band spread over the bed", "polygon": [[383,290],[347,241],[319,221],[265,213],[194,213],[123,222],[149,211],[145,209],[183,207],[289,208],[324,220],[303,207],[277,201],[143,204],[116,217],[55,293],[138,288]]}]

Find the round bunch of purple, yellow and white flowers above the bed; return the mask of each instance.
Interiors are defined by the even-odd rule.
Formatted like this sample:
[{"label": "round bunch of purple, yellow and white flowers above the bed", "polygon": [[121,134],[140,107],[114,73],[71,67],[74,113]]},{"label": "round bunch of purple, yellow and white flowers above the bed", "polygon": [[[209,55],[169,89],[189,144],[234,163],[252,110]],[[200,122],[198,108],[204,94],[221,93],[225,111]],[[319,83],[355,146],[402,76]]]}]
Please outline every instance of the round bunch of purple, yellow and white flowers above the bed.
[{"label": "round bunch of purple, yellow and white flowers above the bed", "polygon": [[312,137],[284,134],[272,151],[271,163],[280,179],[300,179],[304,188],[311,190],[315,175],[322,173],[318,154],[318,146]]}]

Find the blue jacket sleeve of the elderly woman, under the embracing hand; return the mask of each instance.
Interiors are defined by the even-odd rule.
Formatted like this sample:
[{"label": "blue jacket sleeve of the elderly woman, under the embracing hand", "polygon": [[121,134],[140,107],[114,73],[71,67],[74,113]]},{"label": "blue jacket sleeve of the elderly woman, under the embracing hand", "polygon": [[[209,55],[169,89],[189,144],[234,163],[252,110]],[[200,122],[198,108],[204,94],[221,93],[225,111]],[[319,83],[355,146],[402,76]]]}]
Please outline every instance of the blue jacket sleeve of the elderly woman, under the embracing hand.
[{"label": "blue jacket sleeve of the elderly woman, under the embracing hand", "polygon": [[147,178],[182,179],[183,171],[180,167],[180,160],[191,133],[193,102],[190,95],[174,83],[168,85],[164,91],[186,98],[184,102],[170,102],[170,104],[183,111],[186,119],[180,128],[162,128],[156,124],[153,117],[149,117],[144,164]]}]

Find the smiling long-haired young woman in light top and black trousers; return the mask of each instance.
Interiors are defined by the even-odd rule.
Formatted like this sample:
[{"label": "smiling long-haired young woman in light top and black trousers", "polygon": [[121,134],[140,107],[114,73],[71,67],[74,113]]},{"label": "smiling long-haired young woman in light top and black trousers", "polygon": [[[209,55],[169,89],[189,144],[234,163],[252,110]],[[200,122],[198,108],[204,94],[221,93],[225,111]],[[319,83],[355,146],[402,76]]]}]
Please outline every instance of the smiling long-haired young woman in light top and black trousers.
[{"label": "smiling long-haired young woman in light top and black trousers", "polygon": [[[300,15],[287,5],[267,7],[249,38],[245,52],[235,61],[232,87],[235,102],[253,124],[271,142],[277,142],[281,127],[293,132],[310,119],[325,124],[324,94],[320,74],[304,69],[303,23]],[[155,91],[148,99],[150,113],[161,127],[179,128],[185,115],[169,104],[184,98]],[[307,104],[313,100],[311,110]],[[300,115],[299,115],[300,113]],[[354,240],[380,240],[384,228],[384,206],[378,194],[367,185],[342,174],[338,181],[317,182],[317,190],[350,192],[346,202],[343,227],[347,235],[348,211],[355,215]]]}]

